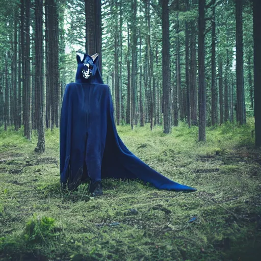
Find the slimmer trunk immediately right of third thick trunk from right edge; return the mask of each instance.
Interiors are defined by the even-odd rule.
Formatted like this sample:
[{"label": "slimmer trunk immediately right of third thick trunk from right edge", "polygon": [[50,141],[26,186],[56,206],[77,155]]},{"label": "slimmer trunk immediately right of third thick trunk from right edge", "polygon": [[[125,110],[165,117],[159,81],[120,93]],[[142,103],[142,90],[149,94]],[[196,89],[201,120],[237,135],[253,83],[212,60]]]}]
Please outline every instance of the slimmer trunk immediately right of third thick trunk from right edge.
[{"label": "slimmer trunk immediately right of third thick trunk from right edge", "polygon": [[211,81],[211,123],[216,125],[218,123],[217,114],[217,87],[216,87],[216,20],[215,20],[215,5],[216,0],[214,0],[214,5],[212,7],[212,81]]}]

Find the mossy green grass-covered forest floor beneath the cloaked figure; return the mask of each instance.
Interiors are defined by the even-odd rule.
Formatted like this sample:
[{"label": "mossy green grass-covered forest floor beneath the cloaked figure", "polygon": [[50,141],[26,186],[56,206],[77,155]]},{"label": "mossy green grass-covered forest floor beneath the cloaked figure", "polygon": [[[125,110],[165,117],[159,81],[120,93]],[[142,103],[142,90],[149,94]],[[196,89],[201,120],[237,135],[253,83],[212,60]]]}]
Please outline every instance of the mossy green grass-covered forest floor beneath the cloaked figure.
[{"label": "mossy green grass-covered forest floor beneath the cloaked figure", "polygon": [[149,166],[196,192],[158,190],[140,180],[103,179],[60,190],[59,129],[37,137],[0,129],[0,260],[260,260],[261,149],[253,119],[245,126],[185,124],[151,132],[117,127],[126,146]]}]

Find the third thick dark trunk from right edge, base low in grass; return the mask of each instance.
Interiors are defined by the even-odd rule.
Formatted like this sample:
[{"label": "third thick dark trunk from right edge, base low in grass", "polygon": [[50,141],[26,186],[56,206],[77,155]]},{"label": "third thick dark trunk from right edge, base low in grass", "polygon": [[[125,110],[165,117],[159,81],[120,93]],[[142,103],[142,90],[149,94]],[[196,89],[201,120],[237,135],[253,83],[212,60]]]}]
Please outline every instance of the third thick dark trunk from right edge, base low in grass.
[{"label": "third thick dark trunk from right edge, base low in grass", "polygon": [[198,73],[199,73],[199,128],[198,140],[205,141],[205,51],[204,51],[204,31],[205,31],[205,0],[199,0],[198,13]]}]

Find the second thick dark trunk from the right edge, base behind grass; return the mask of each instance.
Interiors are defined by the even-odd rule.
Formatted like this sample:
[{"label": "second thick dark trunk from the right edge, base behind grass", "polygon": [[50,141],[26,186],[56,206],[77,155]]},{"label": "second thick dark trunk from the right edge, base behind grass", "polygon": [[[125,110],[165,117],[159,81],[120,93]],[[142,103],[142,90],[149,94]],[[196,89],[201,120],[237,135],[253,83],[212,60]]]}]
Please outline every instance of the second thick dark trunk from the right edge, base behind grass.
[{"label": "second thick dark trunk from the right edge, base behind grass", "polygon": [[243,0],[236,1],[236,73],[237,73],[237,119],[240,124],[246,123],[244,73],[243,73]]}]

